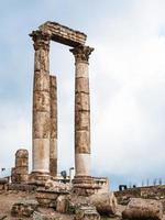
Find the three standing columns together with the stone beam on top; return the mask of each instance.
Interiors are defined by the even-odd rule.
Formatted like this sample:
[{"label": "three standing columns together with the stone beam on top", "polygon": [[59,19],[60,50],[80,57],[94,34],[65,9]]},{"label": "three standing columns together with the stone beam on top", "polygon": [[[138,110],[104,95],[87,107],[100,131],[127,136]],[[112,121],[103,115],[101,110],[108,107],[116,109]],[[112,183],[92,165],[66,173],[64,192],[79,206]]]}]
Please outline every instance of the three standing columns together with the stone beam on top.
[{"label": "three standing columns together with the stone beam on top", "polygon": [[90,92],[89,56],[92,47],[86,46],[87,36],[55,22],[46,22],[33,31],[34,87],[33,87],[33,164],[31,182],[44,183],[57,175],[57,82],[50,75],[50,42],[72,47],[75,56],[75,189],[92,189],[90,174]]}]

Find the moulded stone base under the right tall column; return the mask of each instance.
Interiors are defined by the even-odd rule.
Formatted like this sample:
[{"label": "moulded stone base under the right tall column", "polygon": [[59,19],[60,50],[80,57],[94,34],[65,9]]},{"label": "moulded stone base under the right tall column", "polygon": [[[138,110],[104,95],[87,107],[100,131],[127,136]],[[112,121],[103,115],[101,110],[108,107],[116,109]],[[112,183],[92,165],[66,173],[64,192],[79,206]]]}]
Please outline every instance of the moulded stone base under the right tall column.
[{"label": "moulded stone base under the right tall column", "polygon": [[75,176],[73,179],[73,193],[77,196],[90,196],[100,187],[95,184],[91,176]]}]

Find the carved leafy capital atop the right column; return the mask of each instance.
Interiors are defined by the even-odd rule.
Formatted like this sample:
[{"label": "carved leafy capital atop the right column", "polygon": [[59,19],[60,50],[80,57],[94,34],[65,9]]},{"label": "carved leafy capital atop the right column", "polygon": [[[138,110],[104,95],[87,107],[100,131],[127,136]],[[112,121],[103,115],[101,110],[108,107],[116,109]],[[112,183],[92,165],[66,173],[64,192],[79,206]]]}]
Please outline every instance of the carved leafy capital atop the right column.
[{"label": "carved leafy capital atop the right column", "polygon": [[79,45],[69,51],[74,54],[76,62],[87,62],[88,63],[89,55],[91,54],[94,48],[89,47],[89,46]]}]

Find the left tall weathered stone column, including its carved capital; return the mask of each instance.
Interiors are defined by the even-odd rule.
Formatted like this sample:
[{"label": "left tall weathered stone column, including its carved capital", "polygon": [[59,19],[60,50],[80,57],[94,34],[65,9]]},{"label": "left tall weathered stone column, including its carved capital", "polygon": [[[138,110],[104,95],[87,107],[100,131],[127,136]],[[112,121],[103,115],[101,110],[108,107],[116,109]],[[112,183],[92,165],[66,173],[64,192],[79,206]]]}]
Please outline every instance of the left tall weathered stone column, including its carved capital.
[{"label": "left tall weathered stone column, including its carved capital", "polygon": [[50,174],[50,35],[33,31],[30,36],[35,50],[32,176],[43,180]]}]

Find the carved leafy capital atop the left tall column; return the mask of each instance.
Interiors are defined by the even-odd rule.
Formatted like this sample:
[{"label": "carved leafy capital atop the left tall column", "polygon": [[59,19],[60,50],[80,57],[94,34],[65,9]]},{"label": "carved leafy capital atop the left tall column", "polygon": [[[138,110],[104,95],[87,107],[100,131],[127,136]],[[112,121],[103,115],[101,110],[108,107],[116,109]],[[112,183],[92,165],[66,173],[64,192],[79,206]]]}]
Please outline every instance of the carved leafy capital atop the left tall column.
[{"label": "carved leafy capital atop the left tall column", "polygon": [[34,50],[45,50],[48,51],[50,50],[50,40],[51,36],[47,33],[44,33],[42,31],[33,31],[30,36],[32,37],[33,42],[34,42]]}]

